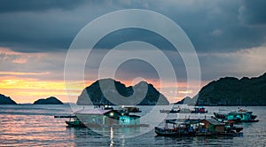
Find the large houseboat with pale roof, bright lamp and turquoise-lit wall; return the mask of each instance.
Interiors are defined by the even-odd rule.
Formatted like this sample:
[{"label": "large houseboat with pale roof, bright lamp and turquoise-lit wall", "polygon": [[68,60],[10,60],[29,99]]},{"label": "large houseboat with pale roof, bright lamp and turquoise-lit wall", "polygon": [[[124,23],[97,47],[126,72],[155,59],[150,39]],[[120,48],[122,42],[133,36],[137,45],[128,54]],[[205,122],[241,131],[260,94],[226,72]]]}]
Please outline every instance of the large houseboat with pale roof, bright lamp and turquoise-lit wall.
[{"label": "large houseboat with pale roof, bright lamp and turquoise-lit wall", "polygon": [[115,110],[81,110],[66,121],[67,127],[141,127],[140,116]]}]

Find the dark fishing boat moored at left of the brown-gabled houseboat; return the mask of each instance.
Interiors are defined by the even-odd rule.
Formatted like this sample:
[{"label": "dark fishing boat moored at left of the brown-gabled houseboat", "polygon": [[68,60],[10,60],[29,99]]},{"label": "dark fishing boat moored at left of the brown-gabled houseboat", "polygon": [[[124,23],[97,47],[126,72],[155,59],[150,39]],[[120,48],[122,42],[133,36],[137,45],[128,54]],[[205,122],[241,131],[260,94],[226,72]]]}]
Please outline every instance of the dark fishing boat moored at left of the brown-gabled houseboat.
[{"label": "dark fishing boat moored at left of the brown-gabled houseboat", "polygon": [[193,136],[195,132],[192,124],[188,122],[177,122],[176,120],[165,120],[164,128],[155,127],[155,133],[162,136]]}]

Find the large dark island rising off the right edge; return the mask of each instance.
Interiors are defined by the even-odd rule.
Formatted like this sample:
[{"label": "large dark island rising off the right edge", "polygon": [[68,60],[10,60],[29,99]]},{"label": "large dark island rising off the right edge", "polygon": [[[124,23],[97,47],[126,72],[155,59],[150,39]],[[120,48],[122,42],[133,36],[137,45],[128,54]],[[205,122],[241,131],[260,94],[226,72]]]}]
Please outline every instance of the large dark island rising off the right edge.
[{"label": "large dark island rising off the right edge", "polygon": [[266,105],[266,73],[254,78],[225,77],[211,81],[191,100],[176,104],[192,105]]}]

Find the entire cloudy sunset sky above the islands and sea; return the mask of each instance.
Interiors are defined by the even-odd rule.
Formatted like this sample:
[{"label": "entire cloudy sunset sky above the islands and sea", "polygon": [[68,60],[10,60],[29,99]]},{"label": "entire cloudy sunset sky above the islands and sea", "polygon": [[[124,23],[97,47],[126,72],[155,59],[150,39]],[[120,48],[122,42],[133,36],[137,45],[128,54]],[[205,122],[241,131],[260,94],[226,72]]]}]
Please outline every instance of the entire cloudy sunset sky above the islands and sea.
[{"label": "entire cloudy sunset sky above the islands and sea", "polygon": [[[120,52],[112,55],[110,64],[121,55],[136,52],[148,53],[157,60],[155,66],[139,58],[121,62],[113,78],[127,86],[142,80],[153,83],[170,102],[193,97],[202,86],[221,77],[259,76],[266,72],[265,5],[264,0],[1,0],[0,93],[17,103],[33,103],[51,96],[75,102],[83,88],[98,80],[101,61],[117,47]],[[184,58],[166,38],[137,28],[113,31],[101,38],[85,61],[84,81],[76,77],[79,74],[74,70],[67,73],[73,79],[64,81],[67,51],[83,27],[109,12],[128,9],[160,13],[184,30],[199,58],[200,85],[199,79],[192,79],[188,85]],[[149,19],[139,17],[136,21]],[[115,22],[118,20],[108,19],[107,23],[98,24],[98,28],[104,29]],[[121,45],[130,41],[150,43],[162,51],[173,67],[176,81],[167,74],[166,78],[160,77],[157,68],[166,66],[147,49],[151,46]],[[105,74],[112,74],[112,70],[106,67]],[[166,84],[162,85],[161,79]],[[66,83],[70,85],[67,90]]]}]

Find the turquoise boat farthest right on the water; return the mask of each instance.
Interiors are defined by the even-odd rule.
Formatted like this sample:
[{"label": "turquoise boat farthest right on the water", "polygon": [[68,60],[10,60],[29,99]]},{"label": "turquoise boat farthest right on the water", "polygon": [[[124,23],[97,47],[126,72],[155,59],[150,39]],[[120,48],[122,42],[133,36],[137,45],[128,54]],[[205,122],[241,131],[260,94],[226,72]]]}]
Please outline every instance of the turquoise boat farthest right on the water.
[{"label": "turquoise boat farthest right on the water", "polygon": [[221,112],[214,112],[215,118],[220,121],[227,121],[233,120],[235,122],[258,122],[259,120],[255,120],[257,117],[253,115],[253,112],[239,110],[236,112],[228,112],[228,113],[221,113]]}]

